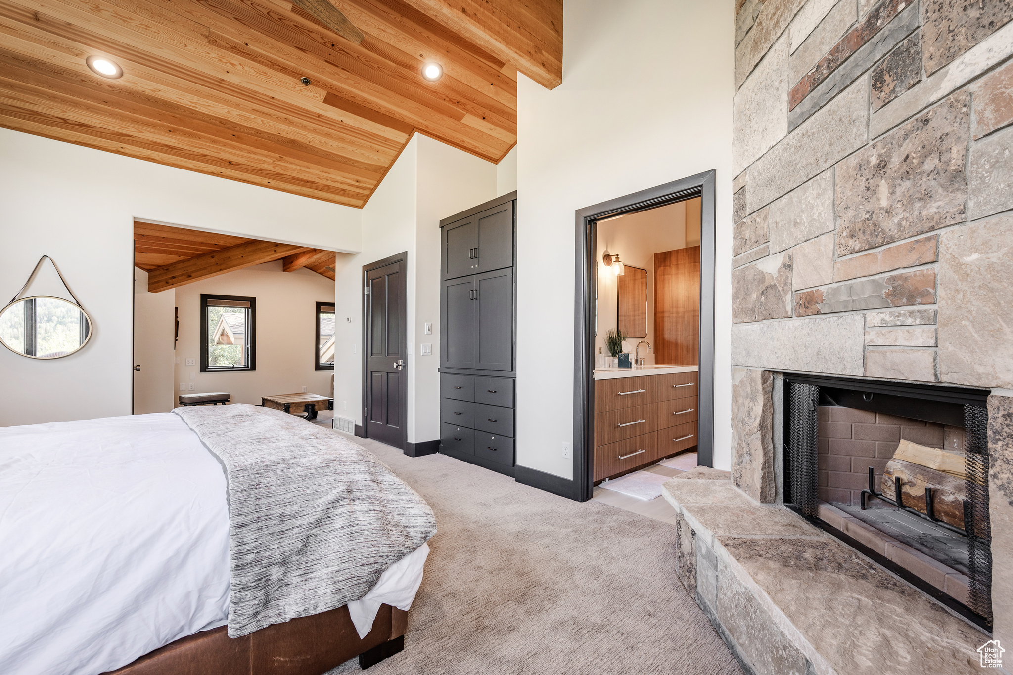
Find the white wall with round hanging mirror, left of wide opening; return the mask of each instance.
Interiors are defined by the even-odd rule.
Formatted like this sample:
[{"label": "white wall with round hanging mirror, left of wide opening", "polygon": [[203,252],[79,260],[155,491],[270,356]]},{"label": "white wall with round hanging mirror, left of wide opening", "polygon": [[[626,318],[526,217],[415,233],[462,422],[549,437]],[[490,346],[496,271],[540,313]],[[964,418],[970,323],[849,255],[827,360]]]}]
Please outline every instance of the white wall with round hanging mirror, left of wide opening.
[{"label": "white wall with round hanging mirror, left of wide opening", "polygon": [[[0,292],[49,254],[94,321],[53,361],[0,348],[0,426],[131,413],[134,219],[343,251],[362,213],[224,178],[0,129]],[[32,292],[61,289],[46,270]],[[40,402],[46,402],[40,405]]]}]

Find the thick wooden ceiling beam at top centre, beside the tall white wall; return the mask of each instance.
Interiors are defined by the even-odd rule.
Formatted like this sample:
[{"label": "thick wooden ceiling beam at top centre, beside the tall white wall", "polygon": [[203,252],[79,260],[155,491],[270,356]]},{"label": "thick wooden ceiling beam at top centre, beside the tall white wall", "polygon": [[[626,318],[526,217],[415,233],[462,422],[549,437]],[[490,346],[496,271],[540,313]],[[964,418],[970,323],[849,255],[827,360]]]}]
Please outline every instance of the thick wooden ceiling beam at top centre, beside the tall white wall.
[{"label": "thick wooden ceiling beam at top centre, beside the tall white wall", "polygon": [[547,89],[563,81],[562,0],[405,0]]}]

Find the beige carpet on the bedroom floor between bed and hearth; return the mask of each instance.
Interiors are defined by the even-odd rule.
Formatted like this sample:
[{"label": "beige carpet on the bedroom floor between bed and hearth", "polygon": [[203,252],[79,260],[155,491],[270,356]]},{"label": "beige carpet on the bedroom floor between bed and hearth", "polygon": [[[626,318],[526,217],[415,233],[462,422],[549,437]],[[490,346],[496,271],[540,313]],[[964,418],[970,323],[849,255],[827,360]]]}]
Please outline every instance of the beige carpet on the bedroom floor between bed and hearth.
[{"label": "beige carpet on the bedroom floor between bed and hearth", "polygon": [[[335,432],[337,433],[337,432]],[[439,531],[387,673],[742,673],[676,577],[673,525],[361,438]],[[358,661],[331,671],[361,672]]]}]

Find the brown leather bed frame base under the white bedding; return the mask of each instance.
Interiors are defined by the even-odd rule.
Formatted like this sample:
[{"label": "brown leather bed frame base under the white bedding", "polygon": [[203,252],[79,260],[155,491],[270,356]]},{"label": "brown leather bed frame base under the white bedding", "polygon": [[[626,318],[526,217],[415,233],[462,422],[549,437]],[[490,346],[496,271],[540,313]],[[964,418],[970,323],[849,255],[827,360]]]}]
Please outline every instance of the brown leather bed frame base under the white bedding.
[{"label": "brown leather bed frame base under the white bedding", "polygon": [[103,675],[320,675],[348,659],[369,668],[404,647],[408,613],[381,605],[359,639],[348,608],[276,623],[243,638],[226,626],[204,630]]}]

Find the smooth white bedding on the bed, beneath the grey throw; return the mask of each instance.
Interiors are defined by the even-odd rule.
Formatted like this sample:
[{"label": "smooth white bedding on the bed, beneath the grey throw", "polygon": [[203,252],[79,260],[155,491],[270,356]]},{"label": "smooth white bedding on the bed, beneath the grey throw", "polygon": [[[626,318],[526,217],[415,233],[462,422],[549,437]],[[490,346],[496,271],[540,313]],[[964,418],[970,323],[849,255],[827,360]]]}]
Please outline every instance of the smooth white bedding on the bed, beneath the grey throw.
[{"label": "smooth white bedding on the bed, beneath the grey throw", "polygon": [[[95,675],[199,630],[229,607],[225,476],[178,415],[0,428],[0,664]],[[426,545],[349,603],[411,605]]]}]

